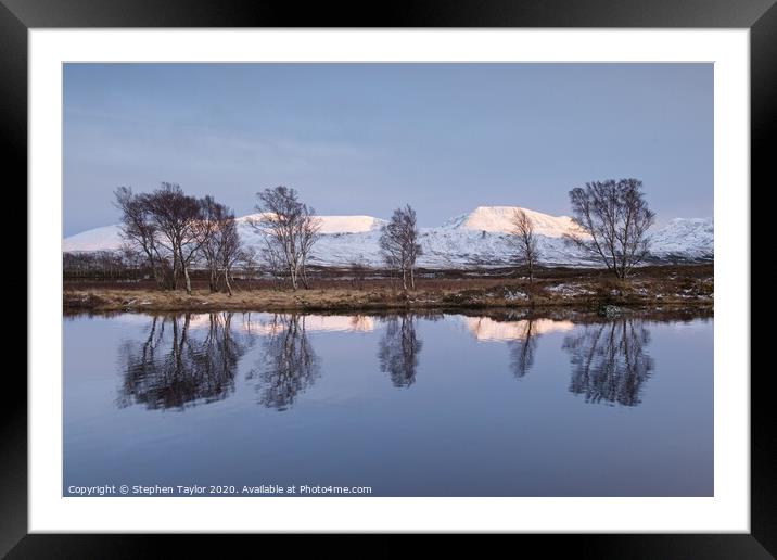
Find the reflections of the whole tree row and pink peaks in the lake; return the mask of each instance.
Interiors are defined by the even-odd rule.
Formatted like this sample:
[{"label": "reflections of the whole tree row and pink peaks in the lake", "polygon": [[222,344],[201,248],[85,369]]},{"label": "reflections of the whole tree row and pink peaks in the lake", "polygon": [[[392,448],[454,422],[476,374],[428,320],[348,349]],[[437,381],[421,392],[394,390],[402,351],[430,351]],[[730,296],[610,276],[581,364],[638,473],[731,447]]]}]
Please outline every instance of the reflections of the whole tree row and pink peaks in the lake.
[{"label": "reflections of the whole tree row and pink peaks in the lake", "polygon": [[[258,341],[260,352],[253,358],[247,379],[257,392],[259,405],[286,410],[320,374],[320,358],[309,333],[369,333],[378,321],[384,324],[378,340],[378,367],[395,387],[409,387],[416,382],[423,347],[417,334],[418,321],[443,318],[434,314],[242,314],[242,320],[233,320],[233,315],[133,318],[148,321],[148,327],[141,340],[124,342],[119,348],[123,377],[118,406],[186,408],[224,399],[234,392],[241,358]],[[459,324],[463,323],[479,342],[506,343],[510,371],[517,379],[534,367],[544,334],[570,332],[562,344],[571,362],[569,391],[584,395],[589,403],[638,405],[640,389],[653,370],[653,360],[644,349],[650,343],[650,332],[640,319],[579,326],[526,316],[515,320],[514,315],[459,316],[456,320],[462,321]]]}]

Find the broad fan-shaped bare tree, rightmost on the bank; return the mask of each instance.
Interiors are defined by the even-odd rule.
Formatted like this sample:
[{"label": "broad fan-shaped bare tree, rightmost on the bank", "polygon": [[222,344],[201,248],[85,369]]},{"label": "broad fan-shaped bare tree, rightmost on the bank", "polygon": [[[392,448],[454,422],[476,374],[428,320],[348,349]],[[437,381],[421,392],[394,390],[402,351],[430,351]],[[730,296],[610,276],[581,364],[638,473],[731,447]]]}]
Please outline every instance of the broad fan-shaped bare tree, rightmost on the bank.
[{"label": "broad fan-shaped bare tree, rightmost on the bank", "polygon": [[648,229],[655,214],[648,208],[637,179],[586,183],[570,191],[578,232],[566,239],[601,259],[624,279],[648,254]]}]

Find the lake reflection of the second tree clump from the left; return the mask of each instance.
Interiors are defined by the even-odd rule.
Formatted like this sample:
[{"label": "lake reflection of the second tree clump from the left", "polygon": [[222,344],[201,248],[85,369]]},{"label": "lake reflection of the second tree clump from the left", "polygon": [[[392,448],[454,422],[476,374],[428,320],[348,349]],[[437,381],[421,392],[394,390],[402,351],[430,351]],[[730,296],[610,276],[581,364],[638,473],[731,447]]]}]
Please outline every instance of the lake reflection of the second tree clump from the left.
[{"label": "lake reflection of the second tree clump from the left", "polygon": [[285,410],[313,385],[319,360],[305,332],[305,317],[276,315],[264,338],[263,362],[249,374],[257,380],[259,404]]}]

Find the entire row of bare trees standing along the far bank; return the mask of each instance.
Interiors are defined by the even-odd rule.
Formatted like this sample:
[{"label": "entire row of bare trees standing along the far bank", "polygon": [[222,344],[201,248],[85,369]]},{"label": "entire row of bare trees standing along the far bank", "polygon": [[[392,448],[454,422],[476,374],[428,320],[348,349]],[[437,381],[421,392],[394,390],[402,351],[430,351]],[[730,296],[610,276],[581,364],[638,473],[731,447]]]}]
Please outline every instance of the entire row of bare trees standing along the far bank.
[{"label": "entire row of bare trees standing along the far bank", "polygon": [[[647,233],[654,214],[641,187],[637,179],[607,180],[569,193],[576,231],[566,240],[621,279],[649,251]],[[253,269],[260,262],[276,278],[288,278],[293,290],[310,288],[308,264],[320,238],[320,218],[292,188],[265,189],[257,199],[258,214],[249,224],[263,239],[258,253],[242,246],[234,213],[213,196],[198,199],[168,182],[150,193],[122,187],[115,192],[115,204],[122,213],[126,254],[133,252],[161,288],[176,290],[182,284],[188,293],[195,264],[207,269],[212,291],[226,290],[230,295],[231,272],[238,263]],[[535,225],[520,208],[511,221],[515,264],[525,268],[531,283],[542,258]],[[409,204],[395,209],[381,230],[381,255],[405,291],[416,289],[416,267],[422,255],[419,238],[416,211]]]}]

